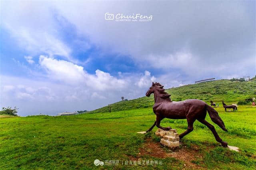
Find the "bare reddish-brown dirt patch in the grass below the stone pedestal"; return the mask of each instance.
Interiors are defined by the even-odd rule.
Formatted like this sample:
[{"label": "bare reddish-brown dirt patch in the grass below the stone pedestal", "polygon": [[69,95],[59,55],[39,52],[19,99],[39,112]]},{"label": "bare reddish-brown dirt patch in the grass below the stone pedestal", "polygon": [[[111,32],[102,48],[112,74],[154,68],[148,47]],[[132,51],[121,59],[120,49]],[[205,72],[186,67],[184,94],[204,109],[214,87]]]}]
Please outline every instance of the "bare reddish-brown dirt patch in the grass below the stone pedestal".
[{"label": "bare reddish-brown dirt patch in the grass below the stone pedestal", "polygon": [[[191,169],[205,169],[204,167],[199,166],[198,164],[192,163],[193,160],[201,160],[202,154],[199,152],[198,146],[193,146],[193,148],[188,149],[186,146],[175,150],[174,152],[163,148],[160,142],[152,142],[150,139],[146,140],[146,144],[143,148],[140,148],[139,157],[143,155],[150,155],[156,158],[176,158],[177,160],[184,162],[184,168]],[[192,162],[191,162],[192,161]]]}]

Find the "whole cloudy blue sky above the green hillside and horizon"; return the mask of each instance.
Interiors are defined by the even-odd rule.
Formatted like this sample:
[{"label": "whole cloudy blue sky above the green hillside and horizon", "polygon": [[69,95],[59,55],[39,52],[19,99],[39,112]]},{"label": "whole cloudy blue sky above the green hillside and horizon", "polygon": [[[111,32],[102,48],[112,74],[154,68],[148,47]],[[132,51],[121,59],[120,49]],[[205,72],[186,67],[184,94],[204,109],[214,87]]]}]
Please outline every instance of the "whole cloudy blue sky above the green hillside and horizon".
[{"label": "whole cloudy blue sky above the green hillside and horizon", "polygon": [[142,97],[152,81],[254,76],[255,19],[255,1],[2,1],[0,106],[56,115]]}]

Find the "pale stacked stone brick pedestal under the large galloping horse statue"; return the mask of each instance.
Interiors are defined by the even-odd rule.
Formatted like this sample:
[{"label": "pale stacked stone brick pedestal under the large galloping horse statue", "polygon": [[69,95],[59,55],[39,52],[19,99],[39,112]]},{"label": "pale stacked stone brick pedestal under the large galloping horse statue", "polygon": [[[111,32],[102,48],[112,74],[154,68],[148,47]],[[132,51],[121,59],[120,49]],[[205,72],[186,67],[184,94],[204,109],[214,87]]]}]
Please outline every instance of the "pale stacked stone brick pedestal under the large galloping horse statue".
[{"label": "pale stacked stone brick pedestal under the large galloping horse statue", "polygon": [[160,143],[163,146],[167,146],[171,150],[175,150],[180,146],[179,134],[176,132],[176,129],[162,130],[158,128],[156,131],[156,136],[161,137]]}]

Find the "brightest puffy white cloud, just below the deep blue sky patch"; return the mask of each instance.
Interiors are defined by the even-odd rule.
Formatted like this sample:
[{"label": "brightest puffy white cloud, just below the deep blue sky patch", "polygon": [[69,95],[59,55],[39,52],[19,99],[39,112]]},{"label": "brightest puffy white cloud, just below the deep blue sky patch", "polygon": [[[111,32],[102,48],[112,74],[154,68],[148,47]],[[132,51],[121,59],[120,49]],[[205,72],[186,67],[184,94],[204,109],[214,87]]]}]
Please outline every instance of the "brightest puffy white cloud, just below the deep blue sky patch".
[{"label": "brightest puffy white cloud, just below the deep blue sky patch", "polygon": [[123,89],[126,84],[125,80],[117,79],[99,69],[95,71],[95,75],[89,74],[82,66],[44,55],[40,56],[39,64],[46,70],[50,79],[70,84],[84,83],[96,90]]}]

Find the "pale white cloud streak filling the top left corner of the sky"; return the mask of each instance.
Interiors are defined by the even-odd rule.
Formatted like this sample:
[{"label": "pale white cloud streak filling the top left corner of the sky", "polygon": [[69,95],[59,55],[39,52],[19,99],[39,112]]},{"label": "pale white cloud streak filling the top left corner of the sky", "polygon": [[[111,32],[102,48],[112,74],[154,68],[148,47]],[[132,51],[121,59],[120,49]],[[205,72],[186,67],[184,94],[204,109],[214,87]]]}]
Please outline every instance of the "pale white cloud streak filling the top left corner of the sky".
[{"label": "pale white cloud streak filling the top left corner of the sky", "polygon": [[[57,25],[52,5],[39,1],[29,1],[28,3],[3,1],[1,5],[4,6],[1,8],[1,27],[10,32],[20,47],[32,55],[40,53],[50,56],[60,55],[76,62],[70,57],[72,50],[60,39],[56,30]],[[15,13],[10,11],[15,11]]]}]

